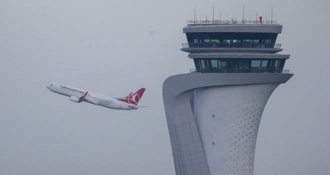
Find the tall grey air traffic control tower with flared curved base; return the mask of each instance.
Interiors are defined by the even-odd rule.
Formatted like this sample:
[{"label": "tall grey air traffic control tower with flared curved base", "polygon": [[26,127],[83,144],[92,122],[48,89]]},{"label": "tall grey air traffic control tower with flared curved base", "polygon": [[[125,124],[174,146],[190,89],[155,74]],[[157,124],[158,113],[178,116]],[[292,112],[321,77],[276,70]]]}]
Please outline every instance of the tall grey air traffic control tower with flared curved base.
[{"label": "tall grey air traffic control tower with flared curved base", "polygon": [[[177,175],[253,174],[263,109],[293,74],[275,43],[274,21],[187,21],[195,68],[163,82],[162,94]],[[191,60],[191,61],[192,61]]]}]

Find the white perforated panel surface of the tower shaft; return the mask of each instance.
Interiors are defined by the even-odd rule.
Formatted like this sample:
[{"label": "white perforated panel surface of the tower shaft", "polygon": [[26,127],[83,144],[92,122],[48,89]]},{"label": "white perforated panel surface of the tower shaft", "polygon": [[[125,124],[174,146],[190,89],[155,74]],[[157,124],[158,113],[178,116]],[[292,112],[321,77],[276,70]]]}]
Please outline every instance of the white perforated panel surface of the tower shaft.
[{"label": "white perforated panel surface of the tower shaft", "polygon": [[194,91],[194,117],[211,174],[253,174],[261,115],[278,85],[228,85]]}]

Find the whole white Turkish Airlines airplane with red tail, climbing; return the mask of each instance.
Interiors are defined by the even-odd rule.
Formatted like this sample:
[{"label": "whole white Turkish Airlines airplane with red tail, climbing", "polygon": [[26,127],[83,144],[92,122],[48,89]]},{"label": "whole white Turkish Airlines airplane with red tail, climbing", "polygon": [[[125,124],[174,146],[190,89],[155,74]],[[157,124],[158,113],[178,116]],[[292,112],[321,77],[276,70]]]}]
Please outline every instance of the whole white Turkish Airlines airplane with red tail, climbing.
[{"label": "whole white Turkish Airlines airplane with red tail, climbing", "polygon": [[91,104],[120,110],[132,110],[137,109],[138,107],[146,107],[137,106],[137,103],[141,99],[145,88],[140,88],[135,93],[131,92],[125,97],[112,98],[61,83],[51,83],[46,85],[46,87],[55,93],[69,96],[71,101],[77,103],[84,101]]}]

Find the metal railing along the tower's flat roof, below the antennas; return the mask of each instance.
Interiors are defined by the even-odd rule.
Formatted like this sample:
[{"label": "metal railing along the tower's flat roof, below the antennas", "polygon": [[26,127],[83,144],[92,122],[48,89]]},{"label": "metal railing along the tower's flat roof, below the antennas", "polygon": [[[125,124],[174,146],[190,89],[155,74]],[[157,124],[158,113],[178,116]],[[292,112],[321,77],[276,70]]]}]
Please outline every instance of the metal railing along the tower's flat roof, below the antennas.
[{"label": "metal railing along the tower's flat roof, below the antennas", "polygon": [[209,24],[276,24],[276,20],[187,20],[187,25],[209,25]]}]

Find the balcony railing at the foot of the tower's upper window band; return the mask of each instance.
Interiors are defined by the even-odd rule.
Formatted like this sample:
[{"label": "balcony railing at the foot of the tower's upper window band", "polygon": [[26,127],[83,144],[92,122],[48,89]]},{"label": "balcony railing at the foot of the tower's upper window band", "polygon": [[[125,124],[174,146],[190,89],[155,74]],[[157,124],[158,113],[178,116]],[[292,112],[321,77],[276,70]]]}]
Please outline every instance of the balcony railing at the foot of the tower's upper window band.
[{"label": "balcony railing at the foot of the tower's upper window band", "polygon": [[200,42],[182,43],[183,48],[280,48],[280,43],[244,43],[244,42]]}]

